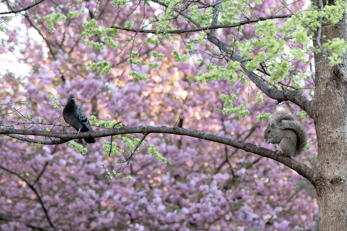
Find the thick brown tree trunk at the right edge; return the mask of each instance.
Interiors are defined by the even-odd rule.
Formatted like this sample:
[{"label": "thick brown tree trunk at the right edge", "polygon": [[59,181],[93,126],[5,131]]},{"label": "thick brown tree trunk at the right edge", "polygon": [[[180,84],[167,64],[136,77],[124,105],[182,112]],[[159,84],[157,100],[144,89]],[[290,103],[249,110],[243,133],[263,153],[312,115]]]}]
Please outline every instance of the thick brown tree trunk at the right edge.
[{"label": "thick brown tree trunk at the right edge", "polygon": [[[314,2],[318,5],[318,1]],[[339,25],[325,25],[322,35],[347,40],[347,17]],[[321,43],[324,43],[321,41]],[[316,46],[317,43],[314,42]],[[318,142],[314,169],[321,178],[315,182],[320,231],[347,230],[347,55],[343,63],[329,66],[315,53],[316,88],[312,104]]]}]

